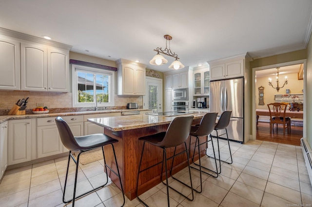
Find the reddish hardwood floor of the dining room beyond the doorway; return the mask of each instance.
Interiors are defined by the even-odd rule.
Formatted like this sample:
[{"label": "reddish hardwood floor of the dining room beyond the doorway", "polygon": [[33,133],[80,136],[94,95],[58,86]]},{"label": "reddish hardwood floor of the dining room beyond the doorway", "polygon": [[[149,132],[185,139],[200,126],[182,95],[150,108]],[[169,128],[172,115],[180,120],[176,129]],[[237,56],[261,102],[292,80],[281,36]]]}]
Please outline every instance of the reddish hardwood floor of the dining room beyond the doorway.
[{"label": "reddish hardwood floor of the dining room beyond the doorway", "polygon": [[283,127],[278,126],[278,130],[276,130],[276,125],[274,126],[274,132],[270,134],[269,122],[259,122],[256,128],[256,139],[262,141],[272,141],[300,146],[300,138],[302,138],[302,136],[302,126],[291,126],[291,133],[288,134],[286,130],[285,135],[283,135]]}]

